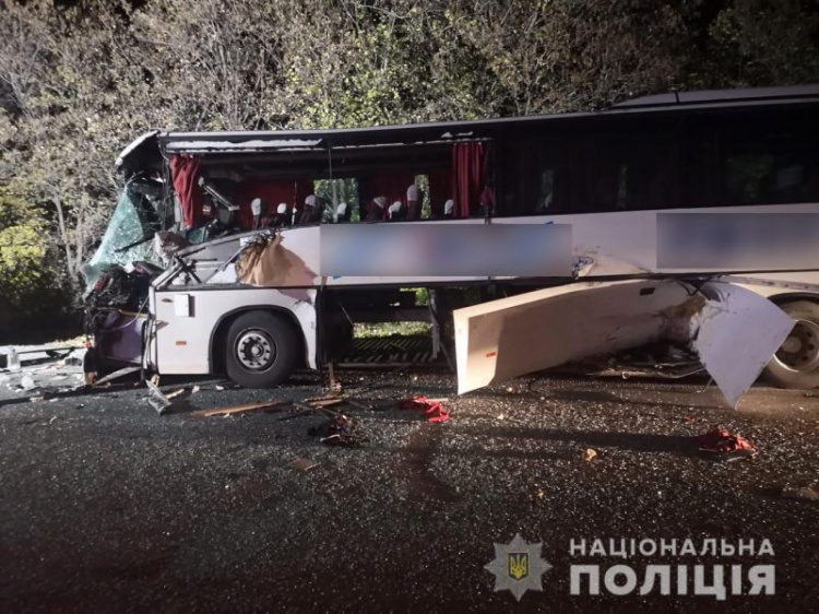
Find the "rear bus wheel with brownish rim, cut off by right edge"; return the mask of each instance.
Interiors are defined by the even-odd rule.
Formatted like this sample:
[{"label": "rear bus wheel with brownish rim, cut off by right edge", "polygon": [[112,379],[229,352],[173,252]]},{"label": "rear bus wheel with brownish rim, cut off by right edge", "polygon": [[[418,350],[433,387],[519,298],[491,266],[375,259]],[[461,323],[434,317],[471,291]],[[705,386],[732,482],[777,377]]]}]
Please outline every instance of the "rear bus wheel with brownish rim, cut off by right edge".
[{"label": "rear bus wheel with brownish rim, cut off by right edge", "polygon": [[794,300],[780,307],[796,320],[796,326],[768,363],[765,377],[781,388],[818,388],[819,304]]}]

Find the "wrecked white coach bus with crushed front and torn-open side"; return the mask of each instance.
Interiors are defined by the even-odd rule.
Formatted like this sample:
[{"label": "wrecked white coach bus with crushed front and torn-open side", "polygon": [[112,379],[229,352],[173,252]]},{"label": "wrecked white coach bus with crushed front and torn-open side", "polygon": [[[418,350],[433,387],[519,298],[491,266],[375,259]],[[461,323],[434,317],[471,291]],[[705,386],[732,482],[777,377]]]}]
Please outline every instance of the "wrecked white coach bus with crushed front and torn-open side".
[{"label": "wrecked white coach bus with crushed front and torn-open side", "polygon": [[[819,386],[819,86],[479,121],[151,132],[117,165],[126,189],[83,269],[109,365],[266,387],[344,363],[355,323],[410,320],[431,324],[430,343],[372,361],[446,359],[468,390],[667,335],[702,356],[709,302],[744,314],[704,340],[720,345],[714,370],[733,346],[752,357],[741,380],[767,364],[781,386]],[[743,288],[790,317],[744,310],[745,295],[720,307]]]}]

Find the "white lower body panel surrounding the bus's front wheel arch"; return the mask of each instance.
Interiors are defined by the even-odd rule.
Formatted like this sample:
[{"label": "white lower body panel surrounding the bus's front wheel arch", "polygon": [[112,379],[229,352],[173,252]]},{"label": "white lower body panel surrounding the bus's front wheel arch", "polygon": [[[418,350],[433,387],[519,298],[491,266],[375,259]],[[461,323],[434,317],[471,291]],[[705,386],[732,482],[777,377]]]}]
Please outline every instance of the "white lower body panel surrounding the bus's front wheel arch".
[{"label": "white lower body panel surrounding the bus's front wheel arch", "polygon": [[[316,290],[246,288],[157,291],[156,369],[159,374],[209,374],[211,343],[225,317],[253,309],[277,309],[294,316],[305,338],[310,368],[317,368]],[[219,347],[215,352],[222,352]]]}]

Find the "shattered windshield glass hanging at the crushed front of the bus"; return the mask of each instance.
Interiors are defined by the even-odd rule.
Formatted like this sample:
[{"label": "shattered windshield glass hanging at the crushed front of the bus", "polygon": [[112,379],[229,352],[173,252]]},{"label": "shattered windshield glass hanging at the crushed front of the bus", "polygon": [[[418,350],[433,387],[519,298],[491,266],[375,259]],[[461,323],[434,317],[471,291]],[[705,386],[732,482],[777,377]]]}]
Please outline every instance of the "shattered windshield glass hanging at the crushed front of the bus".
[{"label": "shattered windshield glass hanging at the crushed front of the bus", "polygon": [[159,229],[159,217],[152,203],[155,191],[147,181],[134,180],[124,187],[99,247],[81,270],[86,293],[111,264],[124,267],[135,261],[159,264],[151,241]]}]

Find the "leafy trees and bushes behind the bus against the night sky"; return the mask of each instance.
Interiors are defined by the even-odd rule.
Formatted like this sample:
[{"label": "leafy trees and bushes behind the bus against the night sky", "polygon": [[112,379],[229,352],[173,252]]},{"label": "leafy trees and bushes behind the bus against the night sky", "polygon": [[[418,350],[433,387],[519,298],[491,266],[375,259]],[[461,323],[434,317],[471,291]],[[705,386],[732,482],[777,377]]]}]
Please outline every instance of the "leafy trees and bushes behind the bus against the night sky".
[{"label": "leafy trees and bushes behind the bus against the night sky", "polygon": [[471,119],[819,82],[819,0],[0,2],[0,344],[71,311],[116,155],[150,128]]}]

